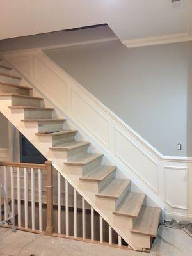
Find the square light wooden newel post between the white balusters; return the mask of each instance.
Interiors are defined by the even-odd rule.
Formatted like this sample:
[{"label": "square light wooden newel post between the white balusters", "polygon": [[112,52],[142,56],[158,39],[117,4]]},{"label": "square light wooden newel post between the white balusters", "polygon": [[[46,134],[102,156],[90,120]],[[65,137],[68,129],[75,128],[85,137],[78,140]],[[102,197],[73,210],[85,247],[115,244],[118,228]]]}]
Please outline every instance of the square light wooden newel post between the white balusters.
[{"label": "square light wooden newel post between the white balusters", "polygon": [[52,193],[53,193],[53,183],[52,183],[52,162],[46,161],[46,198],[47,198],[47,224],[46,232],[47,236],[52,236],[54,231],[52,214],[53,214],[53,202],[52,202]]}]

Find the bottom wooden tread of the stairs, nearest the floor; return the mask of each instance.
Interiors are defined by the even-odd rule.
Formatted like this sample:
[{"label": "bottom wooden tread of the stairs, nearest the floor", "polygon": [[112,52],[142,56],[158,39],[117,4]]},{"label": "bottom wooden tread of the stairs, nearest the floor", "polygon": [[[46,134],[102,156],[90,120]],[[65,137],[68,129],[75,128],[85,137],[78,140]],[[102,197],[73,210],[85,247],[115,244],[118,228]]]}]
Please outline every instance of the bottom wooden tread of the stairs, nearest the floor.
[{"label": "bottom wooden tread of the stairs, nearest the floor", "polygon": [[158,207],[142,206],[131,232],[156,237],[160,213],[161,209]]}]

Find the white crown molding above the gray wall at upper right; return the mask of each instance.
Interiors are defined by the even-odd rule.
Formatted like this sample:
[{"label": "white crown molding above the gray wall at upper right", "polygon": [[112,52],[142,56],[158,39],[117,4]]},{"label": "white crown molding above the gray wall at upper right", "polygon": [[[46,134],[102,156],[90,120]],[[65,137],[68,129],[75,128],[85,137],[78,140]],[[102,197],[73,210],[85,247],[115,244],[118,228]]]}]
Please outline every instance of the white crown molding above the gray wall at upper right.
[{"label": "white crown molding above the gray wall at upper right", "polygon": [[142,47],[149,45],[159,45],[159,44],[171,44],[178,42],[188,42],[192,41],[192,36],[189,33],[175,33],[163,36],[149,36],[144,38],[123,40],[122,43],[128,48]]}]

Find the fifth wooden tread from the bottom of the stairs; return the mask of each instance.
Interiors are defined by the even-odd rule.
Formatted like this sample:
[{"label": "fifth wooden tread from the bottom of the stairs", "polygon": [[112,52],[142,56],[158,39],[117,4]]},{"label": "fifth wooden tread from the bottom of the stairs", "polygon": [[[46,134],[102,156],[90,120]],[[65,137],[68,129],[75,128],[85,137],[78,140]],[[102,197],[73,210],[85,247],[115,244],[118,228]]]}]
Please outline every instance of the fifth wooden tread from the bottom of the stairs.
[{"label": "fifth wooden tread from the bottom of the stairs", "polygon": [[94,160],[96,160],[96,159],[98,159],[102,156],[103,156],[103,154],[86,153],[86,154],[83,154],[82,156],[72,157],[70,160],[68,160],[64,164],[84,166],[84,165],[86,165],[88,163],[91,163],[92,161],[94,161]]}]

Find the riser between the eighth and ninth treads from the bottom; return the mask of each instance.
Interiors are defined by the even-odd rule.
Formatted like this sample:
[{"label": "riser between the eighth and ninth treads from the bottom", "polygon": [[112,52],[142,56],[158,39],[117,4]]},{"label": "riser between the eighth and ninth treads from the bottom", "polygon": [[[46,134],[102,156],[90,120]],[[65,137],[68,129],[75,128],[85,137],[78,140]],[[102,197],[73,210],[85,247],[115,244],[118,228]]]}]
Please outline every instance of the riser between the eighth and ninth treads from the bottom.
[{"label": "riser between the eighth and ninth treads from the bottom", "polygon": [[24,109],[25,119],[51,119],[52,110]]}]

